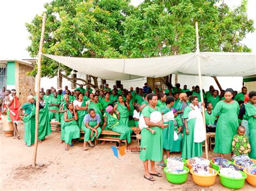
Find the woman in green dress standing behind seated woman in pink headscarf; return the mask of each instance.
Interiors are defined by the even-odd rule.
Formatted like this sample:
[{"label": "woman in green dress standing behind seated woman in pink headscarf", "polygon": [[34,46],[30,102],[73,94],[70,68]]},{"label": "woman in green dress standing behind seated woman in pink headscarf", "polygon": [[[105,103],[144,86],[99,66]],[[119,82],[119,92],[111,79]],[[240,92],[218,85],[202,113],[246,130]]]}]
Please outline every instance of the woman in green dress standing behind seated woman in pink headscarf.
[{"label": "woman in green dress standing behind seated woman in pink headscarf", "polygon": [[118,102],[114,105],[114,110],[118,111],[120,114],[119,122],[121,125],[129,126],[129,110],[130,105],[126,101],[124,102],[123,96],[118,95]]}]

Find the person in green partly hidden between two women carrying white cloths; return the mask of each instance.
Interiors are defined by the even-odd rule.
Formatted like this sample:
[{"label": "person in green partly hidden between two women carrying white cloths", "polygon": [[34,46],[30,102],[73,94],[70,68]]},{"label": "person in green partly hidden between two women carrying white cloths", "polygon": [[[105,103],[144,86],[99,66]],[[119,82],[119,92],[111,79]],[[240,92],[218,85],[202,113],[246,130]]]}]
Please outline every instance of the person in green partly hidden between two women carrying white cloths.
[{"label": "person in green partly hidden between two women carrying white cloths", "polygon": [[182,138],[181,138],[181,131],[182,131],[182,126],[183,122],[181,121],[180,117],[178,116],[178,110],[177,109],[172,109],[173,114],[174,114],[174,130],[178,134],[178,139],[173,142],[172,145],[172,152],[180,152],[182,148]]}]

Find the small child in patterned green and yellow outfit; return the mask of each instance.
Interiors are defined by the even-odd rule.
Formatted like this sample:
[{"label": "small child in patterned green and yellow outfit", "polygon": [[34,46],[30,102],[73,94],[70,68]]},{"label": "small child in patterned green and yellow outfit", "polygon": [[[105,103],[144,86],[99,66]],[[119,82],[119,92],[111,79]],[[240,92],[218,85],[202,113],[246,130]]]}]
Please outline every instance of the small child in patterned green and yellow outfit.
[{"label": "small child in patterned green and yellow outfit", "polygon": [[245,135],[245,127],[238,126],[238,134],[233,137],[232,151],[234,156],[249,154],[251,152],[251,146],[248,137]]}]

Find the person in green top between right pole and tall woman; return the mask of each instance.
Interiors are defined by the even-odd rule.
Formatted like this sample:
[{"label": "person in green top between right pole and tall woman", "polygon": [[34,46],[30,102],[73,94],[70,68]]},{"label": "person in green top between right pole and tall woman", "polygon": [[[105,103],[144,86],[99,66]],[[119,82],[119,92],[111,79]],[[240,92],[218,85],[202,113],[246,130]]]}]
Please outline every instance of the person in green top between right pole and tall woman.
[{"label": "person in green top between right pole and tall woman", "polygon": [[213,105],[210,102],[206,102],[205,107],[206,132],[216,132],[216,117],[212,115]]}]

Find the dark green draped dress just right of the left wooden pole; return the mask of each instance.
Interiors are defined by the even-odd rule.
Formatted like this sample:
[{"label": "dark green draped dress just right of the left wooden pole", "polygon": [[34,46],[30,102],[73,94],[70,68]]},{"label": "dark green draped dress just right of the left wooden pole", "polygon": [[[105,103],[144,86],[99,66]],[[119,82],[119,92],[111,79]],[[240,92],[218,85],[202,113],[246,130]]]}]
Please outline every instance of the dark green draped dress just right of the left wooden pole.
[{"label": "dark green draped dress just right of the left wooden pole", "polygon": [[46,136],[51,134],[48,108],[48,103],[45,103],[44,108],[39,110],[38,140],[44,140]]}]

